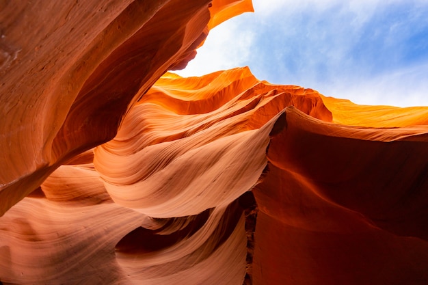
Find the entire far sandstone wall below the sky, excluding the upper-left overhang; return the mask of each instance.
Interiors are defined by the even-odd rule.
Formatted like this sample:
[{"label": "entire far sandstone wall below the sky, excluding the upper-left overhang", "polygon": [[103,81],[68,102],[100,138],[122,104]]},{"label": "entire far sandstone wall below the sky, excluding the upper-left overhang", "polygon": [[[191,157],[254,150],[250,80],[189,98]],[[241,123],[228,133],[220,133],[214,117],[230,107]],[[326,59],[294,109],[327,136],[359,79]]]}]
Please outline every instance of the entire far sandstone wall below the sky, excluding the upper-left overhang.
[{"label": "entire far sandstone wall below the sky, excluding the upper-left overhang", "polygon": [[384,107],[343,102],[248,68],[165,74],[1,217],[0,280],[425,284],[427,108],[375,128],[338,118]]}]

